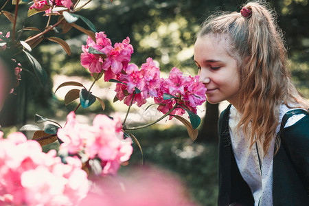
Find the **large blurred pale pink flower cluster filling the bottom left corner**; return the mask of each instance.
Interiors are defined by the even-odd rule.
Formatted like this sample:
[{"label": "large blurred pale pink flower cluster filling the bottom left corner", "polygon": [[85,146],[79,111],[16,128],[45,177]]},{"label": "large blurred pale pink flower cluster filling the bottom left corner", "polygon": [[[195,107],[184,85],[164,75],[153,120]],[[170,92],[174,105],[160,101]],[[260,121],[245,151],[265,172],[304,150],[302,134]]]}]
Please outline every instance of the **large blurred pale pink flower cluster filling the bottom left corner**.
[{"label": "large blurred pale pink flower cluster filling the bottom left corner", "polygon": [[0,201],[5,205],[76,205],[89,190],[78,158],[67,164],[22,133],[0,132]]}]

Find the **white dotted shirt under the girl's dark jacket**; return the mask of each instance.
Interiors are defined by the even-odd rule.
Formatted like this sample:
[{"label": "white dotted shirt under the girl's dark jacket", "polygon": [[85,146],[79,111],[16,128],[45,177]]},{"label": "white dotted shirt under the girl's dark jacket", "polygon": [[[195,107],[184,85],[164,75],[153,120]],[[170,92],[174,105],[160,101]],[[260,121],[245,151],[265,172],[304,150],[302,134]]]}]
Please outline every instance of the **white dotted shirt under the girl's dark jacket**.
[{"label": "white dotted shirt under the girl's dark jacket", "polygon": [[[288,108],[285,105],[280,106],[279,124],[276,128],[276,133],[279,132],[282,117],[290,110],[293,110],[293,108]],[[285,127],[295,124],[304,116],[304,114],[293,115],[288,119]],[[245,141],[242,128],[240,128],[239,133],[236,130],[240,119],[240,113],[238,113],[234,106],[231,106],[229,115],[229,133],[231,135],[233,154],[240,170],[240,174],[251,189],[255,206],[273,205],[273,153],[275,138],[271,141],[271,146],[266,155],[263,153],[263,147],[260,141],[257,141],[256,144],[252,146],[251,150],[249,150],[251,143]]]}]

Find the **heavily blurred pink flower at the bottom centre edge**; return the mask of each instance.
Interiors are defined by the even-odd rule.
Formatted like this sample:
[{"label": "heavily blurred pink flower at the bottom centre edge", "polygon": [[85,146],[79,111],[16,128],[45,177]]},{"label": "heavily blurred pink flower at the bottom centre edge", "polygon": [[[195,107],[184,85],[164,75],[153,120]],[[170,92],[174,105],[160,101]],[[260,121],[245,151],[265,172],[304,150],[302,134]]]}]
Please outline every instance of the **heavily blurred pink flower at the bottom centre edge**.
[{"label": "heavily blurred pink flower at the bottom centre edge", "polygon": [[109,179],[91,179],[80,206],[197,206],[174,174],[154,168],[130,170]]}]

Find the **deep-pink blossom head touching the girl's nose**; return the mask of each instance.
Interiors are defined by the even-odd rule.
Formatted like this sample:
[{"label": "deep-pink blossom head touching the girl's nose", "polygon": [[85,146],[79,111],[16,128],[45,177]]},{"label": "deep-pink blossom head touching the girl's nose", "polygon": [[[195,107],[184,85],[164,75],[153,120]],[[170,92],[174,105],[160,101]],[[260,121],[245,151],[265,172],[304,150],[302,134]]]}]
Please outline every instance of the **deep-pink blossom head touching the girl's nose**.
[{"label": "deep-pink blossom head touching the girl's nose", "polygon": [[[191,76],[183,76],[183,73],[174,67],[170,71],[169,78],[161,82],[158,90],[158,98],[155,98],[155,103],[160,104],[158,110],[162,113],[168,113],[170,109],[177,103],[180,106],[188,108],[196,113],[196,106],[203,104],[206,101],[206,88],[204,84],[198,82],[199,76],[192,78]],[[167,93],[176,97],[163,100],[163,94]],[[185,110],[182,107],[177,107],[170,113],[171,115],[183,115]],[[172,116],[170,116],[172,119]]]}]

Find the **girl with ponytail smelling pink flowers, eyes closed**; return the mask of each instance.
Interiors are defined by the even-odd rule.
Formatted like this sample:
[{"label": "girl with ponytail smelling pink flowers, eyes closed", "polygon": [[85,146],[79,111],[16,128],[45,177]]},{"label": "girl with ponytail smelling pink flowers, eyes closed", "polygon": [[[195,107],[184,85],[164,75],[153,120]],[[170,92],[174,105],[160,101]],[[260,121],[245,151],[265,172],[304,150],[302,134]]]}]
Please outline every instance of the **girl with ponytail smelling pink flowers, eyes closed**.
[{"label": "girl with ponytail smelling pink flowers, eyes closed", "polygon": [[309,104],[286,59],[265,3],[212,16],[198,33],[207,100],[230,103],[219,119],[218,205],[309,205]]}]

